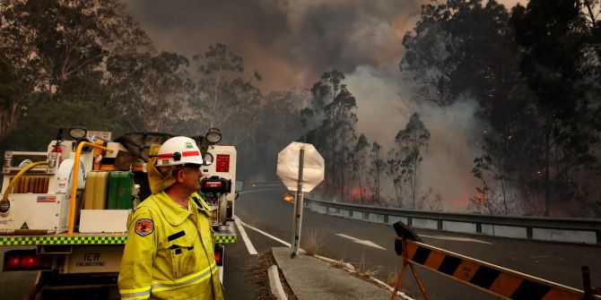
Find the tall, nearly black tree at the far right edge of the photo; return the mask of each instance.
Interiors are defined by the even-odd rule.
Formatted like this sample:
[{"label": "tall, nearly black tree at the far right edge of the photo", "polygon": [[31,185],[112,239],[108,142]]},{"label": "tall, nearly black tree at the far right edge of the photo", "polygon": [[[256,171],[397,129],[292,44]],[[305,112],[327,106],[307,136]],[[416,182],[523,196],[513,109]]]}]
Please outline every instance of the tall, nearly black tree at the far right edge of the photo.
[{"label": "tall, nearly black tree at the far right edge of the photo", "polygon": [[538,176],[531,184],[542,187],[545,216],[553,202],[573,200],[582,170],[590,174],[598,164],[591,147],[598,147],[601,130],[601,43],[593,5],[598,3],[531,0],[512,11],[520,71],[536,96],[540,120],[540,154],[532,161]]}]

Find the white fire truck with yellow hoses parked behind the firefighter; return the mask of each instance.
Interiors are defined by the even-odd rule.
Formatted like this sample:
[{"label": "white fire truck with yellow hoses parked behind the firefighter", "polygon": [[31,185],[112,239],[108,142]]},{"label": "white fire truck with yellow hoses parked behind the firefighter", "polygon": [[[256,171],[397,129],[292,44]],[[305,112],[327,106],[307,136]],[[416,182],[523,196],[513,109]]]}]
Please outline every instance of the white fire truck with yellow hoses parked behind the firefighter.
[{"label": "white fire truck with yellow hoses parked behind the firefighter", "polygon": [[[63,140],[60,131],[46,151],[4,152],[3,271],[38,271],[27,298],[119,298],[127,216],[150,195],[152,145],[173,135],[126,133],[110,141],[109,133],[95,133],[74,127],[71,139]],[[215,128],[192,138],[205,161],[200,193],[212,209],[222,280],[225,245],[237,240],[234,200],[242,184],[236,183],[236,149],[219,145],[221,133]]]}]

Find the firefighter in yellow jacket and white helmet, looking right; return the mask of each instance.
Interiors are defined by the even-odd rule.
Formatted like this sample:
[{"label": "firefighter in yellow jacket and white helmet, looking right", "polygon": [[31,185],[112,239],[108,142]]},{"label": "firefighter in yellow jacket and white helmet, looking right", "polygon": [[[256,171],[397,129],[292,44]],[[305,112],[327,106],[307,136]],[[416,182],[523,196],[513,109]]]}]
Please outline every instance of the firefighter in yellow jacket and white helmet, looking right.
[{"label": "firefighter in yellow jacket and white helmet, looking right", "polygon": [[223,299],[209,209],[197,193],[202,164],[196,142],[183,136],[149,159],[152,195],[127,219],[122,299]]}]

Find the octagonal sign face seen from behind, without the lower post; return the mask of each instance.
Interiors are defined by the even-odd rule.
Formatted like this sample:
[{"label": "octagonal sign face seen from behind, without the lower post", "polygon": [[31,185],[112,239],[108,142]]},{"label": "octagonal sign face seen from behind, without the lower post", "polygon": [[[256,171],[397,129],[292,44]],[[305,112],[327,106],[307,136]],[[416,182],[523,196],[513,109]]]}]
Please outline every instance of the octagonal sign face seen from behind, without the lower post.
[{"label": "octagonal sign face seen from behind, without the lower post", "polygon": [[313,145],[292,141],[277,154],[277,176],[289,191],[298,190],[300,149],[304,149],[302,167],[302,192],[311,192],[324,180],[326,164]]}]

